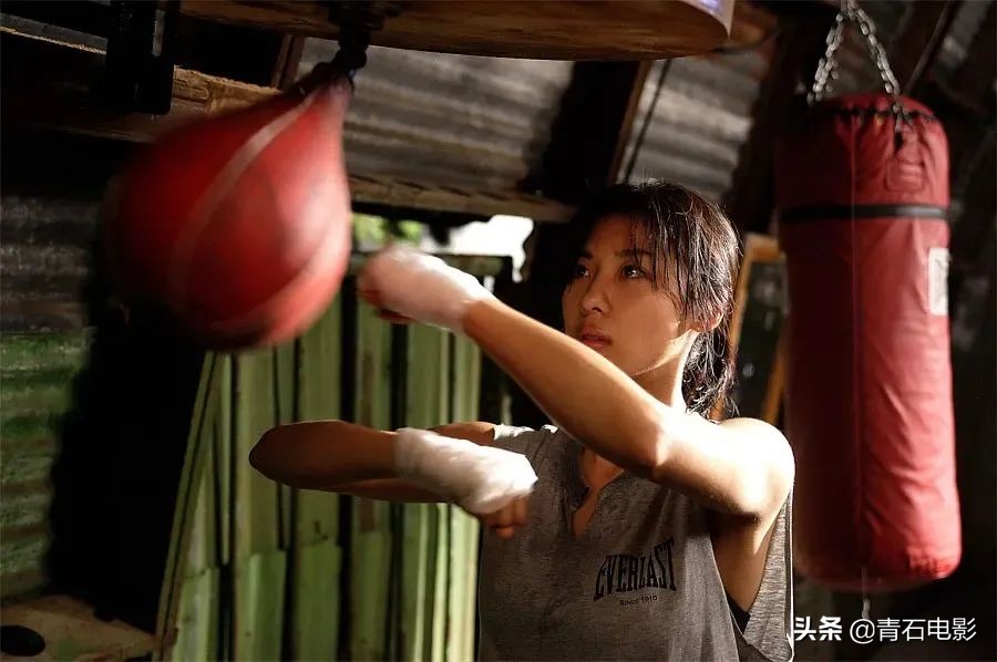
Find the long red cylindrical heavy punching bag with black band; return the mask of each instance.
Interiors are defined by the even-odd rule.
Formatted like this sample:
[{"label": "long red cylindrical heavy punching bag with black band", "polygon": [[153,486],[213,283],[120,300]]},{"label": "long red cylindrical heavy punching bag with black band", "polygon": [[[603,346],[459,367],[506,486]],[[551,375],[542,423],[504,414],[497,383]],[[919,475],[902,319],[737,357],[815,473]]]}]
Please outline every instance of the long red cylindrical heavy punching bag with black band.
[{"label": "long red cylindrical heavy punching bag with black band", "polygon": [[947,311],[948,145],[923,105],[821,102],[775,148],[789,285],[796,567],[895,590],[958,566]]}]

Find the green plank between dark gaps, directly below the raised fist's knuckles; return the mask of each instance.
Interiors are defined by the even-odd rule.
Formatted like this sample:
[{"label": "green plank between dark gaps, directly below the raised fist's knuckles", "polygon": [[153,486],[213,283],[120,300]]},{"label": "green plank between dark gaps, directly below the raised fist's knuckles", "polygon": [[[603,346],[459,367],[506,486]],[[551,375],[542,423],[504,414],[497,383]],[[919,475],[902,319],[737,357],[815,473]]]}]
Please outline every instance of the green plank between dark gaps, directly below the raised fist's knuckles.
[{"label": "green plank between dark gaps, directly below the raised fist's knuckles", "polygon": [[[369,306],[357,309],[356,421],[391,426],[391,327]],[[390,587],[391,508],[352,499],[350,527],[350,647],[353,660],[383,660]]]}]

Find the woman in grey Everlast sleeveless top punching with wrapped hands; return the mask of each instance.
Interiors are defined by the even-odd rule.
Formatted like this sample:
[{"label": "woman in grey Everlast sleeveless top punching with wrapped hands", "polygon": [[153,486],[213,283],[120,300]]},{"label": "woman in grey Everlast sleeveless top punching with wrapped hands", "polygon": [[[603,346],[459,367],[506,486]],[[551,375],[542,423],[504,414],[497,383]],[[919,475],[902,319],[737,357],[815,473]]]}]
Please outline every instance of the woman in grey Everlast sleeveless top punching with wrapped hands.
[{"label": "woman in grey Everlast sleeveless top punching with wrapped hands", "polygon": [[791,659],[792,454],[760,421],[709,420],[731,381],[729,220],[650,183],[600,193],[573,228],[564,333],[412,250],[383,251],[359,283],[389,319],[465,333],[556,427],[305,423],[269,432],[254,466],[477,515],[494,531],[483,659]]}]

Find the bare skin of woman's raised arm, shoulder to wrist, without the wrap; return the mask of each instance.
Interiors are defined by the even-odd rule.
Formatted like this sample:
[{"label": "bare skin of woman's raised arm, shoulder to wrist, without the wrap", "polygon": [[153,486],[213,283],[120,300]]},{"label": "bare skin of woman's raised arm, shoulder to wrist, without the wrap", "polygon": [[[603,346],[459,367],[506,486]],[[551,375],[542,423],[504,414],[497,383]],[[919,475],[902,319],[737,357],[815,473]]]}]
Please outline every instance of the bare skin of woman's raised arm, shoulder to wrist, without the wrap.
[{"label": "bare skin of woman's raised arm, shoulder to wrist, without the wrap", "polygon": [[665,405],[598,352],[494,299],[470,306],[463,330],[554,423],[614,464],[732,515],[763,518],[785,499],[793,457],[774,427],[717,425]]}]

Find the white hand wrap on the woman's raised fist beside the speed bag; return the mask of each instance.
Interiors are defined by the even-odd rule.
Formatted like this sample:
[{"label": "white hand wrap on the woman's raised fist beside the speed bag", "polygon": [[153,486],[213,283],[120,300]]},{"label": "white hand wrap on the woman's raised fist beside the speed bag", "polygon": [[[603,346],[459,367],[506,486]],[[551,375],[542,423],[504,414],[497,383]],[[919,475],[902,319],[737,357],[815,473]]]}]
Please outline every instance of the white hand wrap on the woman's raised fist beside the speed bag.
[{"label": "white hand wrap on the woman's raised fist beside the speed bag", "polygon": [[388,310],[453,331],[463,331],[472,303],[493,298],[470,273],[398,244],[368,260],[358,286],[377,291]]}]

